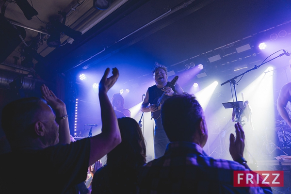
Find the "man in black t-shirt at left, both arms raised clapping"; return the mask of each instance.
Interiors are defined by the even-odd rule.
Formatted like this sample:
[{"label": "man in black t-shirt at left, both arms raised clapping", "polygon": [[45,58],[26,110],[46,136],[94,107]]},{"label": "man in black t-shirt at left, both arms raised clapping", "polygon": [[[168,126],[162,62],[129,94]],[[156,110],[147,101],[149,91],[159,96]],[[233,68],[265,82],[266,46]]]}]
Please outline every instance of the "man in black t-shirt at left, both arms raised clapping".
[{"label": "man in black t-shirt at left, both arms raised clapping", "polygon": [[84,181],[88,166],[121,142],[107,96],[119,72],[113,68],[107,78],[109,72],[107,68],[99,83],[102,132],[91,138],[70,144],[65,103],[45,85],[41,91],[46,101],[30,97],[4,107],[2,128],[11,152],[0,155],[1,193],[62,194]]}]

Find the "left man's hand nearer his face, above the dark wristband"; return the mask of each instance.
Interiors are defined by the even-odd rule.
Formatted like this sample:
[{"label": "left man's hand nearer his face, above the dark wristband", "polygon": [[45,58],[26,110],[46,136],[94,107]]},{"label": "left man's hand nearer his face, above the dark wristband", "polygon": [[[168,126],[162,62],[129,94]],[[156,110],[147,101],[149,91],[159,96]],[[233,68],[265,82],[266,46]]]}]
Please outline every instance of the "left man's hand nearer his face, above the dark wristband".
[{"label": "left man's hand nearer his face, above the dark wristband", "polygon": [[51,90],[49,90],[48,86],[42,84],[40,90],[43,95],[42,97],[47,101],[48,105],[53,110],[60,110],[65,108],[65,103],[61,99],[56,97],[55,94]]}]

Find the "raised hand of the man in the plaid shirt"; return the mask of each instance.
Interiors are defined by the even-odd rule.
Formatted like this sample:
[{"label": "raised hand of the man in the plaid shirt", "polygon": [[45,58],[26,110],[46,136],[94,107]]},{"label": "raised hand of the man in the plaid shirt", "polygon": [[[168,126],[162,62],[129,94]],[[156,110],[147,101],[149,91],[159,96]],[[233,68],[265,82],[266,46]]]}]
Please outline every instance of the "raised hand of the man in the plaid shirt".
[{"label": "raised hand of the man in the plaid shirt", "polygon": [[234,137],[234,134],[230,134],[229,136],[229,153],[232,157],[232,159],[238,160],[243,157],[243,149],[244,149],[244,132],[242,130],[242,126],[239,122],[237,122],[235,125],[236,130],[236,138]]}]

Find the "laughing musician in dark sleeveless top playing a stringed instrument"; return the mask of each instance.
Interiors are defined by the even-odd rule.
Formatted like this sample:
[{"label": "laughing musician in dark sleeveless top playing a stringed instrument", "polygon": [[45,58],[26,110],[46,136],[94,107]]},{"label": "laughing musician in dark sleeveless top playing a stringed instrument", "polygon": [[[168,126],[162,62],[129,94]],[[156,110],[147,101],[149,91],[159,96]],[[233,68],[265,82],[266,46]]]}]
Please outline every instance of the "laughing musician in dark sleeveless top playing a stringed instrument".
[{"label": "laughing musician in dark sleeveless top playing a stringed instrument", "polygon": [[[155,119],[156,125],[154,131],[154,148],[155,158],[159,158],[164,154],[169,140],[162,127],[161,116],[159,116],[161,114],[159,112],[161,111],[162,103],[159,107],[157,107],[156,104],[163,93],[166,95],[163,99],[165,100],[167,97],[171,97],[175,94],[182,94],[184,91],[178,84],[174,84],[175,86],[168,87],[170,82],[168,81],[167,67],[164,65],[156,63],[152,73],[156,85],[153,85],[147,89],[146,96],[141,106],[141,111],[145,113],[152,112],[152,114],[155,112],[158,113],[158,118]],[[154,118],[156,117],[157,116],[155,115]]]}]

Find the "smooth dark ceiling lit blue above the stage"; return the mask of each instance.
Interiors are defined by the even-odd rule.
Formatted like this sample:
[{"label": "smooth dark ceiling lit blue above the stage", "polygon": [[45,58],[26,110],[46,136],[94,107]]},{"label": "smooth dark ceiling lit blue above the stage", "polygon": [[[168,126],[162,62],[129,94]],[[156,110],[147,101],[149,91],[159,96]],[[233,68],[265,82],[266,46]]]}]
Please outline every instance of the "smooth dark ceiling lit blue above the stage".
[{"label": "smooth dark ceiling lit blue above the stage", "polygon": [[173,64],[245,37],[269,36],[290,20],[291,0],[129,0],[81,40],[47,55],[49,65],[38,63],[36,70],[46,77],[49,71],[77,74],[117,66],[126,72],[126,82],[149,73],[155,61],[171,70]]}]

